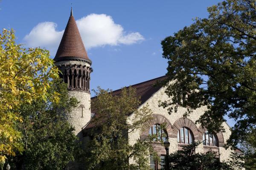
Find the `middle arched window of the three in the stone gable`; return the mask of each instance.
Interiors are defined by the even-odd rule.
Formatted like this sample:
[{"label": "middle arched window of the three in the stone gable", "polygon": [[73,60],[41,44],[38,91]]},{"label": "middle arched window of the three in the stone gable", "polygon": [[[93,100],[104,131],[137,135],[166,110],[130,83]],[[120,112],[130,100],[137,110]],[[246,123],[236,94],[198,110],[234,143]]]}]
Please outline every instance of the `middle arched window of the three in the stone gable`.
[{"label": "middle arched window of the three in the stone gable", "polygon": [[193,133],[187,127],[181,127],[177,135],[178,143],[190,144],[194,142]]}]

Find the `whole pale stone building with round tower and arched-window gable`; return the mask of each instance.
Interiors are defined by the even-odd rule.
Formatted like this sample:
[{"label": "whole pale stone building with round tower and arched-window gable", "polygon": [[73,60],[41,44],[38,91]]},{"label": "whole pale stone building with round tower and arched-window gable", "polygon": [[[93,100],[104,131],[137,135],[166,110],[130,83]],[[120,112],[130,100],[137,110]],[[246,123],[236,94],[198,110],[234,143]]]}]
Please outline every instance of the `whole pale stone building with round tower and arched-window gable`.
[{"label": "whole pale stone building with round tower and arched-window gable", "polygon": [[[90,138],[86,135],[86,131],[95,126],[90,120],[97,114],[90,107],[90,74],[93,70],[91,68],[92,61],[88,58],[84,48],[72,9],[54,61],[55,65],[62,71],[61,77],[67,83],[69,96],[76,97],[80,102],[78,108],[73,109],[67,115],[67,119],[75,127],[75,133],[80,141],[85,142]],[[134,131],[129,134],[129,142],[133,144],[137,139],[155,133],[156,128],[165,122],[166,130],[164,133],[166,133],[170,142],[170,152],[180,150],[181,146],[193,141],[204,140],[196,152],[204,153],[212,149],[219,154],[220,161],[227,159],[231,153],[231,150],[225,150],[223,147],[230,136],[230,127],[227,123],[223,123],[226,130],[225,133],[208,134],[206,133],[207,129],[195,124],[195,121],[207,109],[206,107],[196,109],[188,118],[183,118],[186,108],[181,107],[178,108],[177,113],[169,115],[167,109],[158,107],[159,100],[164,101],[168,99],[168,96],[164,92],[165,89],[161,86],[155,86],[156,82],[164,79],[166,79],[165,76],[132,85],[133,88],[136,88],[137,96],[141,99],[140,108],[148,103],[149,108],[153,111],[154,119],[145,124],[145,130],[143,132]],[[121,90],[116,90],[113,91],[113,94],[118,95],[120,92]],[[130,116],[133,116],[133,114]],[[83,145],[85,144],[83,143]],[[157,150],[159,156],[166,154],[165,148],[160,142],[154,143],[154,148]],[[151,161],[151,167],[152,169],[158,169],[160,168],[160,164]],[[80,168],[77,167],[76,169]]]}]

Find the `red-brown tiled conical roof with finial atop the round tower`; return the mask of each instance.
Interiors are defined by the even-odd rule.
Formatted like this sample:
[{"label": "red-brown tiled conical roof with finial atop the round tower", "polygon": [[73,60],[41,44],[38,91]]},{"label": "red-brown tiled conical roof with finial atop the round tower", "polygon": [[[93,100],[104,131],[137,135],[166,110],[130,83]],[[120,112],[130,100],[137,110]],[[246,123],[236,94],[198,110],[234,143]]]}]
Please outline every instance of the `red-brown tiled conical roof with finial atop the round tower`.
[{"label": "red-brown tiled conical roof with finial atop the round tower", "polygon": [[76,20],[73,17],[72,8],[61,43],[54,58],[56,62],[65,60],[83,60],[91,63],[77,28]]}]

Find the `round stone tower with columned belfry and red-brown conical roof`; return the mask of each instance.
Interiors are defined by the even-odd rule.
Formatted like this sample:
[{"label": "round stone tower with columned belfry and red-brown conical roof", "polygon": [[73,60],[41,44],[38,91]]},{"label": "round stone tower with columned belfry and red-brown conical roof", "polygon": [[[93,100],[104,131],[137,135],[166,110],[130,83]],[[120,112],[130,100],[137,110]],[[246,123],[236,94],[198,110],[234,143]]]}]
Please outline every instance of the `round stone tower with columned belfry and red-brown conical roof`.
[{"label": "round stone tower with columned belfry and red-brown conical roof", "polygon": [[69,96],[76,97],[79,101],[78,107],[67,114],[67,120],[75,127],[75,134],[81,140],[81,128],[91,118],[90,73],[93,70],[90,67],[92,62],[87,56],[76,20],[73,17],[72,8],[54,61],[62,72],[60,77],[67,83]]}]

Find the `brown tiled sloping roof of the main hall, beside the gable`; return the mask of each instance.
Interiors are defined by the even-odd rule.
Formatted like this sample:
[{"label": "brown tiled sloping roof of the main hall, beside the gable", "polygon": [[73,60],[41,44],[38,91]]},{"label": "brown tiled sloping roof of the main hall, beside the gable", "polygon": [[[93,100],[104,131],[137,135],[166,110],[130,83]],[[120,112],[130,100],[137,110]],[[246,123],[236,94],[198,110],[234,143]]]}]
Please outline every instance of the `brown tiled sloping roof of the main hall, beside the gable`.
[{"label": "brown tiled sloping roof of the main hall, beside the gable", "polygon": [[[155,79],[151,79],[145,82],[141,82],[135,85],[131,85],[132,88],[136,89],[136,96],[140,98],[141,105],[146,102],[155,92],[157,92],[163,85],[158,85],[158,82],[163,82],[167,77],[162,76]],[[119,95],[121,94],[121,89],[118,89],[116,91],[113,91],[113,95]],[[96,99],[95,97],[92,97],[91,100]],[[94,113],[94,117],[97,117],[97,111],[95,111],[94,108],[91,108],[91,112]],[[100,125],[102,123],[106,122],[106,119],[102,119],[101,121],[90,121],[87,125],[83,127],[83,129],[90,129],[92,127],[96,127],[97,125]]]}]

